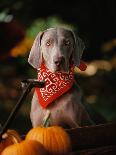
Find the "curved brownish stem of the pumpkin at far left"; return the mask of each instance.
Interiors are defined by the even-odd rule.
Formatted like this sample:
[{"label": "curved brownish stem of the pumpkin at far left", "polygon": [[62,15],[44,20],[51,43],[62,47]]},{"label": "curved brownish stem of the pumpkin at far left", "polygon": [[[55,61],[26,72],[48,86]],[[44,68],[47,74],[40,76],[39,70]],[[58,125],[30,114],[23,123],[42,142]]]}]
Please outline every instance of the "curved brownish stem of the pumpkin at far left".
[{"label": "curved brownish stem of the pumpkin at far left", "polygon": [[2,135],[2,138],[11,138],[14,144],[21,142],[20,135],[15,130],[8,130],[6,133]]}]

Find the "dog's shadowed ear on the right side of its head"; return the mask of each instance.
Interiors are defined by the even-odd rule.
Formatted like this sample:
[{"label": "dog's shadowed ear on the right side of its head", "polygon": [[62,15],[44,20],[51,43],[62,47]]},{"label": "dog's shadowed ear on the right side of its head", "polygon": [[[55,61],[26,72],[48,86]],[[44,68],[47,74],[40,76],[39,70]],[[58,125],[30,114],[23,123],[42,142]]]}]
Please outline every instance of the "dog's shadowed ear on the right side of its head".
[{"label": "dog's shadowed ear on the right side of its head", "polygon": [[73,51],[73,63],[75,66],[79,66],[83,51],[85,49],[85,44],[81,38],[75,37],[75,35],[74,35],[74,40],[75,40],[75,45],[74,45],[74,51]]}]

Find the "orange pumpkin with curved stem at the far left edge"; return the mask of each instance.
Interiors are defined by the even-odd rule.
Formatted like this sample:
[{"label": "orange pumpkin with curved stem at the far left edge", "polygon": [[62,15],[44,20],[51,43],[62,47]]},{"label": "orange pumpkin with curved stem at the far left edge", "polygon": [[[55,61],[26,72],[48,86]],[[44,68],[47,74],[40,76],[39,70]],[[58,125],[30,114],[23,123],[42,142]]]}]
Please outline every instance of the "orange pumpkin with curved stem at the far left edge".
[{"label": "orange pumpkin with curved stem at the far left edge", "polygon": [[15,130],[7,130],[7,132],[2,135],[2,140],[0,142],[0,155],[7,146],[14,144],[14,136],[18,141],[21,141],[20,135]]}]

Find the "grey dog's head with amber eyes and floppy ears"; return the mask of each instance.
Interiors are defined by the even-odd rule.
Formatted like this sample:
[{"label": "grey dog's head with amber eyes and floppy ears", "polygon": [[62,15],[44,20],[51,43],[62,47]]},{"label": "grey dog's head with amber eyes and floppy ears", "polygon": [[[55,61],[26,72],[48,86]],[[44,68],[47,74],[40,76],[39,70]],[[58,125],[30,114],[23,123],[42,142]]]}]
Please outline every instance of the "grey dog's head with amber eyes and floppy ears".
[{"label": "grey dog's head with amber eyes and floppy ears", "polygon": [[79,66],[83,50],[84,43],[71,30],[50,28],[37,35],[28,61],[36,69],[44,62],[52,72],[68,72],[72,62]]}]

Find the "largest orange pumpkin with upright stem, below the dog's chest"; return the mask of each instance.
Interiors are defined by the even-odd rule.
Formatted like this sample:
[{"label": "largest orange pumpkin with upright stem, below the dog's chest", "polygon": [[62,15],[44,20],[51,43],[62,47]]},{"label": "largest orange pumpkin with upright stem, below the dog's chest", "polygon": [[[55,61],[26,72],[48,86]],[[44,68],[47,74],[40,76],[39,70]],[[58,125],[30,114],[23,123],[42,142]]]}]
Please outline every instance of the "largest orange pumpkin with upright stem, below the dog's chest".
[{"label": "largest orange pumpkin with upright stem, below the dog's chest", "polygon": [[71,151],[69,135],[59,126],[33,128],[27,133],[26,140],[39,141],[50,155],[67,155]]}]

